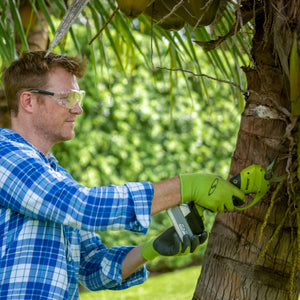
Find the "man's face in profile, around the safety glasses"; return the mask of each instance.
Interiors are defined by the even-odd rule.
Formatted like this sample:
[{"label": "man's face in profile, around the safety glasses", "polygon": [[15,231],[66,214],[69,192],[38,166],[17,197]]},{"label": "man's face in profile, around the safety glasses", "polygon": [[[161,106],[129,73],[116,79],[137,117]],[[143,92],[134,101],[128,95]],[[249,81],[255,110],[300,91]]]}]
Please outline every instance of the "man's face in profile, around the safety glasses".
[{"label": "man's face in profile, around the safety glasses", "polygon": [[[49,74],[47,91],[62,92],[79,90],[77,79],[61,67],[55,68]],[[37,102],[33,115],[33,127],[45,143],[54,145],[70,140],[75,136],[74,126],[76,116],[83,110],[77,103],[69,109],[57,103],[54,96],[42,95],[42,101]]]}]

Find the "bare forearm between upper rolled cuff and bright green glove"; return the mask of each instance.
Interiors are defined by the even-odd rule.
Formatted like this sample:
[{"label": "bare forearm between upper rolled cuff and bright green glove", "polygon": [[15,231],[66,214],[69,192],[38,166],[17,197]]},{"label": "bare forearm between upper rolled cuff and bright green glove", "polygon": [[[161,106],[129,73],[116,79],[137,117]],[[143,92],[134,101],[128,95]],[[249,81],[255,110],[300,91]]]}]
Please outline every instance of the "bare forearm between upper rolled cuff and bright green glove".
[{"label": "bare forearm between upper rolled cuff and bright green glove", "polygon": [[181,203],[181,189],[179,176],[153,183],[154,195],[151,215],[166,210]]}]

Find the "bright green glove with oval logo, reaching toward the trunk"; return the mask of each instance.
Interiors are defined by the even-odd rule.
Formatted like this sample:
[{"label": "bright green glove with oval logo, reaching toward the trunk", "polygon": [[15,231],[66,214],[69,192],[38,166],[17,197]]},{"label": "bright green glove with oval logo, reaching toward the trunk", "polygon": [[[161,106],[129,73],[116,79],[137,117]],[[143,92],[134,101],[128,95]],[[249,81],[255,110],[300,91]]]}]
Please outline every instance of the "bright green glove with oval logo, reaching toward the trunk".
[{"label": "bright green glove with oval logo, reaching toward the trunk", "polygon": [[217,175],[182,174],[180,182],[182,202],[194,201],[197,206],[213,212],[231,211],[234,202],[245,202],[245,194],[240,189]]}]

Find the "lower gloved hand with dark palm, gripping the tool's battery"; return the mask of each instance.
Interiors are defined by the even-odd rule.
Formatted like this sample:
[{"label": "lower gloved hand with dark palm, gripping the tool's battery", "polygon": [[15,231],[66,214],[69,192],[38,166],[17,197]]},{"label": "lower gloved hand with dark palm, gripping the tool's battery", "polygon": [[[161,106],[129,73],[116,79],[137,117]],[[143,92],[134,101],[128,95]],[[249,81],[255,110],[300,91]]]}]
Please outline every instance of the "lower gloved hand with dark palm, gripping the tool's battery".
[{"label": "lower gloved hand with dark palm, gripping the tool's battery", "polygon": [[203,235],[185,235],[181,242],[174,227],[170,227],[157,238],[146,242],[142,246],[142,256],[146,260],[153,260],[157,256],[181,256],[197,252],[199,245],[206,240],[206,232]]}]

